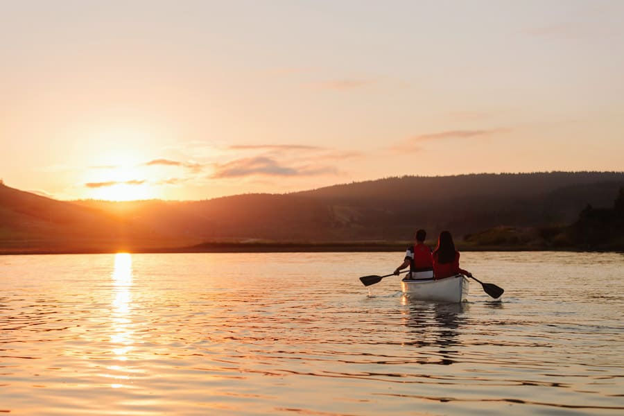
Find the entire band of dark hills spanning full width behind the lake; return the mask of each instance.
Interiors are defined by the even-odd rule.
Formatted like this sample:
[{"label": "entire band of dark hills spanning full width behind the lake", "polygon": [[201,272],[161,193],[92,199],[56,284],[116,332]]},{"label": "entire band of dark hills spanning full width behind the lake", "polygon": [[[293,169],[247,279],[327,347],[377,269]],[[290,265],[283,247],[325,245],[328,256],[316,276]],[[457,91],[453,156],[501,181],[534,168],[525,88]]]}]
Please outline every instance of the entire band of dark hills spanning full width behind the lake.
[{"label": "entire band of dark hills spanning full width behind the lake", "polygon": [[256,249],[345,243],[362,250],[363,242],[403,245],[419,227],[432,238],[442,229],[460,242],[469,236],[466,243],[474,248],[485,247],[483,241],[539,248],[546,240],[567,247],[573,239],[553,236],[587,205],[611,207],[621,187],[623,172],[483,173],[186,202],[67,202],[0,185],[0,248],[217,250],[246,242]]}]

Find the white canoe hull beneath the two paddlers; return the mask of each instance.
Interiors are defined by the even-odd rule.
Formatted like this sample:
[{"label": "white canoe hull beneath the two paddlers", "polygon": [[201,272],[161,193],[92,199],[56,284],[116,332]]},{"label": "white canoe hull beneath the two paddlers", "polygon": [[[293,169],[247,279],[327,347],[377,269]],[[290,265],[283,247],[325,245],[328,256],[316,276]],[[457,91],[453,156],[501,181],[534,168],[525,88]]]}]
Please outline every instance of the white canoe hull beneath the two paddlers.
[{"label": "white canoe hull beneath the two paddlers", "polygon": [[415,300],[464,302],[468,297],[469,280],[462,275],[440,280],[401,280],[401,290]]}]

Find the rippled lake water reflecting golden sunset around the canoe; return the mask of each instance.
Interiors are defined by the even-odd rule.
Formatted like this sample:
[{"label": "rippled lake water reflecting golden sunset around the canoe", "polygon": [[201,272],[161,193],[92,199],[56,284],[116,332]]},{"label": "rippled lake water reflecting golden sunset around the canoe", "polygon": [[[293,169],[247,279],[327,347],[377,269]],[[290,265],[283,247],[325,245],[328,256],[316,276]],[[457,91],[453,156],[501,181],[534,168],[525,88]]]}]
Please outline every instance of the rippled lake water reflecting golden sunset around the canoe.
[{"label": "rippled lake water reflecting golden sunset around the canoe", "polygon": [[397,253],[0,257],[0,413],[622,415],[624,255],[465,252],[491,300],[406,300]]}]

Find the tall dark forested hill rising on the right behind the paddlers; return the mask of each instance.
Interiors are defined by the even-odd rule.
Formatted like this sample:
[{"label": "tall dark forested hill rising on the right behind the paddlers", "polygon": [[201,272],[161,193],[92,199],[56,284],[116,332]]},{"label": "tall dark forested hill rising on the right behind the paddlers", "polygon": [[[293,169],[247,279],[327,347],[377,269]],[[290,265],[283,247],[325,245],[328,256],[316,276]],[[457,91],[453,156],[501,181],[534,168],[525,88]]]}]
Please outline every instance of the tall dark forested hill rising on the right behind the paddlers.
[{"label": "tall dark forested hill rising on the right behind the paddlers", "polygon": [[498,225],[568,224],[588,203],[610,205],[623,183],[624,173],[616,172],[404,176],[297,195],[326,203],[336,227],[353,238],[411,239],[417,227],[462,235]]}]

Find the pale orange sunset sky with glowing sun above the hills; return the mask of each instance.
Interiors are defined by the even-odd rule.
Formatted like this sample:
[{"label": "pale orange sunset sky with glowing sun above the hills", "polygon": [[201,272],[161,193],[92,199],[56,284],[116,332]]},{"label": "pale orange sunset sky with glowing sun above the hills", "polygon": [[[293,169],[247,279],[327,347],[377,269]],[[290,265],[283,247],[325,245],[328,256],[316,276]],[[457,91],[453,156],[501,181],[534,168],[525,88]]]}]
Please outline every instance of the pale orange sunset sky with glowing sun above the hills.
[{"label": "pale orange sunset sky with glowing sun above the hills", "polygon": [[624,1],[0,0],[0,178],[200,200],[624,170]]}]

